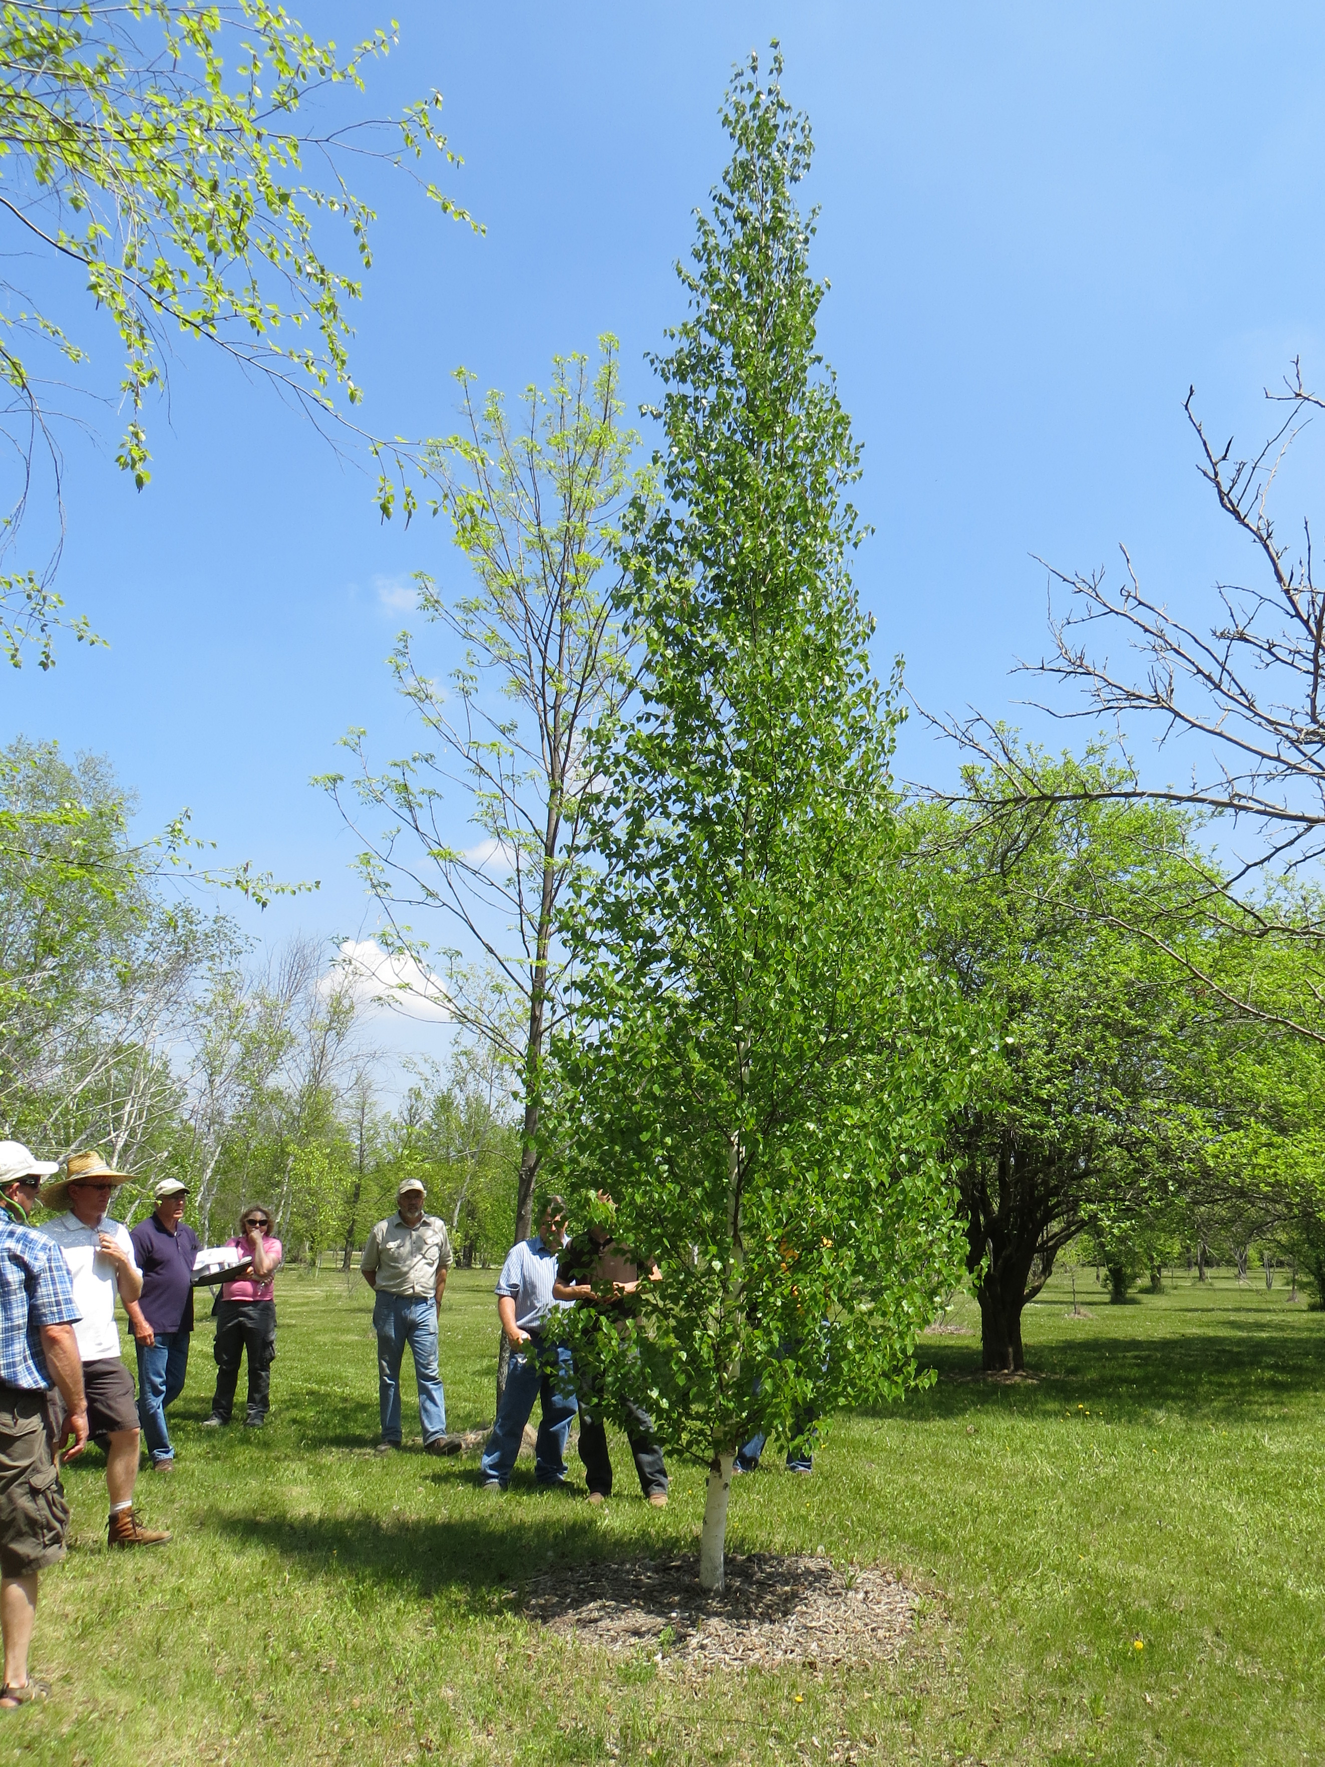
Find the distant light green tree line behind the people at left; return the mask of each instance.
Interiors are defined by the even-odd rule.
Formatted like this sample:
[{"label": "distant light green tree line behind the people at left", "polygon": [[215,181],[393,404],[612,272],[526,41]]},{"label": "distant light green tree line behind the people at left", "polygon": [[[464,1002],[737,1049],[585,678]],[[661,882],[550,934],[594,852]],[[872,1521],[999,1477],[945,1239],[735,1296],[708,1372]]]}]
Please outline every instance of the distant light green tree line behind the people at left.
[{"label": "distant light green tree line behind the people at left", "polygon": [[0,753],[0,1127],[42,1154],[101,1147],[136,1184],[191,1186],[205,1239],[263,1196],[293,1260],[339,1253],[419,1173],[458,1256],[489,1263],[514,1216],[505,1064],[458,1043],[383,1103],[362,977],[316,940],[263,954],[138,845],[110,765]]}]

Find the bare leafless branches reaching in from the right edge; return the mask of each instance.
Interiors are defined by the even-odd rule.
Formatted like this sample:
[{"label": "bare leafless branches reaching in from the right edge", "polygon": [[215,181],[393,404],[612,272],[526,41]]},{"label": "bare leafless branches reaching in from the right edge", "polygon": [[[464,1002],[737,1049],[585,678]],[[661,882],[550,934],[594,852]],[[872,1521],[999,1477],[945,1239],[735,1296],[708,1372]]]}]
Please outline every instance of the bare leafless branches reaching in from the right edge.
[{"label": "bare leafless branches reaching in from the right edge", "polygon": [[[1148,590],[1122,548],[1124,573],[1083,574],[1053,565],[1051,588],[1067,590],[1065,611],[1051,608],[1051,648],[1019,673],[1079,691],[1076,703],[1039,703],[1060,719],[1102,717],[1117,732],[1124,767],[1092,797],[1184,806],[1230,829],[1221,864],[1191,850],[1192,892],[1187,915],[1210,919],[1219,931],[1247,938],[1290,938],[1325,947],[1325,910],[1316,866],[1325,857],[1325,587],[1314,580],[1309,519],[1300,544],[1281,539],[1270,493],[1293,442],[1311,413],[1325,406],[1302,380],[1300,364],[1283,391],[1267,398],[1286,406],[1265,444],[1246,458],[1230,440],[1214,444],[1194,410],[1184,410],[1198,442],[1198,470],[1223,514],[1247,542],[1254,574],[1217,583],[1207,624],[1178,618],[1161,592]],[[1044,562],[1044,560],[1041,560]],[[1124,656],[1104,648],[1111,636]],[[931,719],[968,753],[1012,785],[1018,806],[1062,804],[1060,783],[1019,746],[1016,732],[979,714]],[[1152,785],[1124,744],[1150,724],[1161,749],[1177,753],[1182,783]],[[961,793],[956,793],[961,797]],[[1219,993],[1219,984],[1189,949],[1178,951],[1152,921],[1147,937],[1178,958]],[[1325,949],[1321,965],[1298,965],[1302,991],[1272,1005],[1254,993],[1228,998],[1238,1011],[1325,1041]]]}]

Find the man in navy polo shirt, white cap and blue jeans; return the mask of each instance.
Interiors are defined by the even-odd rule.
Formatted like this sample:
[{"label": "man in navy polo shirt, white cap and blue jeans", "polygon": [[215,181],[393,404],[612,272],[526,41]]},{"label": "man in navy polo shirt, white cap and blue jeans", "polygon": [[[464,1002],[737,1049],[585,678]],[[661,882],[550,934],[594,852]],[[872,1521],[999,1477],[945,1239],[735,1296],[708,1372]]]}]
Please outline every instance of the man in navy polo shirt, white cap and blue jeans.
[{"label": "man in navy polo shirt, white cap and blue jeans", "polygon": [[193,1334],[193,1260],[198,1235],[184,1225],[187,1184],[163,1179],[155,1210],[129,1239],[143,1272],[143,1292],[129,1302],[129,1323],[138,1345],[138,1417],[154,1472],[175,1470],[175,1449],[166,1430],[166,1407],[184,1392]]}]

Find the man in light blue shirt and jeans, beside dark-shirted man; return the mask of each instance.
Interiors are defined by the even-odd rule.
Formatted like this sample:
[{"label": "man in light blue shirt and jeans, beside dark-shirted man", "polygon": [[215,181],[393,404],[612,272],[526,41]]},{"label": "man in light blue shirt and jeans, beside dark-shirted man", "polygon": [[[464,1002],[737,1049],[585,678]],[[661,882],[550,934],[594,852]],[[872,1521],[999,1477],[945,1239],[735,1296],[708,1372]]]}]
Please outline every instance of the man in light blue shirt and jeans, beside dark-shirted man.
[{"label": "man in light blue shirt and jeans, beside dark-shirted man", "polygon": [[539,1232],[511,1248],[496,1279],[496,1315],[511,1345],[511,1362],[496,1422],[482,1452],[486,1490],[504,1491],[511,1483],[535,1399],[542,1401],[542,1419],[534,1477],[539,1484],[565,1484],[565,1442],[576,1414],[571,1352],[544,1338],[548,1318],[569,1306],[555,1301],[551,1292],[564,1244],[565,1203],[549,1196],[539,1214]]}]

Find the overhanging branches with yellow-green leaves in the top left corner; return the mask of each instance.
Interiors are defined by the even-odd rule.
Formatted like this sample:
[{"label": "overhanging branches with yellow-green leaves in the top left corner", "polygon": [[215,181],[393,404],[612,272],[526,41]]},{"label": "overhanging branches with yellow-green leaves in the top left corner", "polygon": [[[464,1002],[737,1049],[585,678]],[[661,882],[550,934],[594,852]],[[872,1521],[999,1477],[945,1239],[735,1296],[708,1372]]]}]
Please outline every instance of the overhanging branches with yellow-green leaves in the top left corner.
[{"label": "overhanging branches with yellow-green leaves in the top left corner", "polygon": [[[118,396],[117,465],[140,489],[150,477],[147,399],[164,383],[177,332],[260,375],[314,422],[371,442],[348,417],[360,398],[348,311],[376,217],[348,168],[366,157],[405,168],[443,214],[470,219],[424,168],[433,154],[458,163],[440,92],[382,118],[341,120],[330,102],[336,88],[362,92],[367,64],[394,44],[392,25],[341,53],[269,0],[0,7],[0,380],[12,474],[0,645],[16,666],[35,647],[49,668],[57,627],[95,641],[53,588],[71,415],[55,401],[71,385]],[[325,217],[346,230],[352,267],[323,244]],[[23,256],[35,258],[46,293],[14,279]],[[60,267],[115,327],[118,385],[94,366],[85,334],[57,318]],[[55,537],[39,565],[25,565],[18,537],[37,491],[53,502]]]}]

